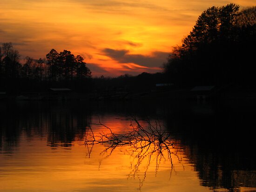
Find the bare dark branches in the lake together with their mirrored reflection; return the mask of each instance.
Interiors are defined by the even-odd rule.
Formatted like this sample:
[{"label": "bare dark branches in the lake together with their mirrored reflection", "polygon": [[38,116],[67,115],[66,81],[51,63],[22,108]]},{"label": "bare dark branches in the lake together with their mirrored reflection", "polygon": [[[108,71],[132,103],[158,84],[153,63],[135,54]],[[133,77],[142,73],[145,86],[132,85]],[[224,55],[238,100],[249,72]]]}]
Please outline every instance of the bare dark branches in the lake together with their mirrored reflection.
[{"label": "bare dark branches in the lake together with their mirrored reflection", "polygon": [[[122,120],[122,119],[121,119]],[[162,161],[169,161],[171,163],[170,178],[172,172],[175,172],[175,166],[172,156],[181,161],[178,156],[179,147],[175,146],[175,142],[170,138],[170,132],[166,131],[161,124],[155,120],[152,123],[149,119],[139,122],[136,118],[130,120],[130,131],[119,134],[111,130],[110,127],[101,123],[90,123],[86,132],[84,145],[88,149],[88,157],[90,158],[94,145],[103,145],[105,149],[100,153],[104,159],[111,156],[111,154],[121,146],[128,146],[129,150],[125,150],[124,154],[131,157],[131,172],[128,178],[138,178],[140,180],[139,189],[146,179],[149,166],[155,160],[155,176],[159,170]],[[92,126],[102,126],[106,128],[106,132],[94,132]],[[175,149],[175,150],[173,150]],[[143,172],[143,177],[140,178],[141,165],[146,164]],[[101,161],[100,165],[101,166]]]}]

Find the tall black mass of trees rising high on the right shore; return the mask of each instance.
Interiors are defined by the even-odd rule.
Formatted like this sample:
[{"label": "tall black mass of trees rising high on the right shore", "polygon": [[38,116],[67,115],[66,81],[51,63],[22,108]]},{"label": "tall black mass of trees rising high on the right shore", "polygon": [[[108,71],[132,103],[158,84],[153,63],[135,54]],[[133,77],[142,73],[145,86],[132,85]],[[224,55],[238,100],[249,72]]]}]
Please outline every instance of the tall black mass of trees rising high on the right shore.
[{"label": "tall black mass of trees rising high on the right shore", "polygon": [[256,82],[256,7],[235,4],[210,7],[192,31],[175,46],[164,64],[169,82],[178,87]]}]

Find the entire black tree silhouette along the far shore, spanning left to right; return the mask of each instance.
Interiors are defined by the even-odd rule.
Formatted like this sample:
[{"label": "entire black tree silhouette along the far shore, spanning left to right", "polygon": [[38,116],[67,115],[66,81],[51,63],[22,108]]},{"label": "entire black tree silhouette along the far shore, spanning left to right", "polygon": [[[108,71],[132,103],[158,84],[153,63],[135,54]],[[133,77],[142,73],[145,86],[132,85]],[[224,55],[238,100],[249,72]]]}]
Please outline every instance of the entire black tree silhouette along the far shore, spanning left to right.
[{"label": "entire black tree silhouette along the far shore, spanning left to right", "polygon": [[46,59],[26,57],[21,65],[19,52],[13,49],[12,43],[3,43],[0,89],[17,93],[68,87],[89,92],[129,87],[138,92],[150,91],[156,83],[168,83],[177,88],[236,85],[252,90],[256,83],[255,45],[256,7],[240,11],[238,5],[231,3],[202,12],[182,45],[175,46],[169,55],[163,65],[164,73],[92,79],[80,55],[52,49]]}]

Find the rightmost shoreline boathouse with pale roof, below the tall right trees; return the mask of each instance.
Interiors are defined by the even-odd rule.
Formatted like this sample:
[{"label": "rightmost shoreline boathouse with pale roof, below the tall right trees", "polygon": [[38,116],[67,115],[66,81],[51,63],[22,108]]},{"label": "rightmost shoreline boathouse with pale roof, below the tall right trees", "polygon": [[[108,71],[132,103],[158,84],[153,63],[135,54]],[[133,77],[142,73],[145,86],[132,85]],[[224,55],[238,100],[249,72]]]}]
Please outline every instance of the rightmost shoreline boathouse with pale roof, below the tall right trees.
[{"label": "rightmost shoreline boathouse with pale roof, below the tall right trees", "polygon": [[206,99],[215,93],[215,86],[195,86],[190,91],[196,99]]}]

